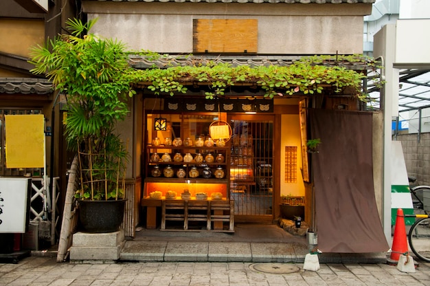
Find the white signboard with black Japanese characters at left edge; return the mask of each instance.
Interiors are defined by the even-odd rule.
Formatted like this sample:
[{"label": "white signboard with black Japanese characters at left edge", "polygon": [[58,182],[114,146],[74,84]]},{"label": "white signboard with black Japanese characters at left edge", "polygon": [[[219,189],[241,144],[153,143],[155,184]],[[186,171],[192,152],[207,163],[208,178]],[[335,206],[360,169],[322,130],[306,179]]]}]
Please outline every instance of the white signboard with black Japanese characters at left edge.
[{"label": "white signboard with black Japanese characters at left edge", "polygon": [[0,232],[25,232],[30,190],[30,178],[0,178]]}]

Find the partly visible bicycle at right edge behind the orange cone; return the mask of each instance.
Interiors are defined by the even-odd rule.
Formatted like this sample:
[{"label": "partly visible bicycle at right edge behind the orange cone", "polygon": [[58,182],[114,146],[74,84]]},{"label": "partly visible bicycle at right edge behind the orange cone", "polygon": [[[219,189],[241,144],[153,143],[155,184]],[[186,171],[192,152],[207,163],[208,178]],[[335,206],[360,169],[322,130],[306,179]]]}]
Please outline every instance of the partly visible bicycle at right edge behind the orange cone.
[{"label": "partly visible bicycle at right edge behind the orange cone", "polygon": [[[409,182],[414,183],[415,177],[409,177]],[[405,217],[415,217],[417,220],[409,230],[409,247],[414,254],[423,261],[430,262],[430,206],[425,205],[424,195],[430,194],[430,186],[409,187],[411,191],[414,212],[418,214],[406,214]],[[415,198],[414,198],[415,197]]]}]

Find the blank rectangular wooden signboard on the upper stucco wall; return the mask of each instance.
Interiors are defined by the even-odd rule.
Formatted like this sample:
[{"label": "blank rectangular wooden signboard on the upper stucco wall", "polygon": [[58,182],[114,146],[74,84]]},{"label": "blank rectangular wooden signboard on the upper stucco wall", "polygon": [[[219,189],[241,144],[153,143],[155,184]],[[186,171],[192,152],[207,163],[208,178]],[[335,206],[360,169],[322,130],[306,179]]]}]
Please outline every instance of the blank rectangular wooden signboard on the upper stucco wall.
[{"label": "blank rectangular wooden signboard on the upper stucco wall", "polygon": [[256,53],[256,19],[194,19],[193,50],[201,53]]}]

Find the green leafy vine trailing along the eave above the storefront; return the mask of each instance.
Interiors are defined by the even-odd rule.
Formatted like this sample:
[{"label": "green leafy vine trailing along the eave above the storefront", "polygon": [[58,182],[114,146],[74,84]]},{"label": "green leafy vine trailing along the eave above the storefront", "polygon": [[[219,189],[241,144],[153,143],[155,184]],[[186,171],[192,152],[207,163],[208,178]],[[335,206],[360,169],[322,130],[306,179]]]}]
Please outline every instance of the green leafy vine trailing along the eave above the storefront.
[{"label": "green leafy vine trailing along the eave above the storefront", "polygon": [[[361,91],[365,74],[348,69],[348,65],[361,65],[363,70],[378,69],[370,58],[360,55],[304,57],[289,66],[238,66],[227,63],[196,63],[193,66],[151,68],[137,71],[137,80],[151,83],[148,89],[155,94],[185,94],[185,85],[190,82],[204,83],[210,89],[205,98],[224,96],[228,87],[253,84],[264,90],[264,97],[293,96],[295,94],[322,94],[324,88],[331,88],[339,94],[344,89],[352,89],[352,94],[361,100],[367,96]],[[328,65],[330,61],[331,65]],[[381,83],[378,83],[381,85]]]}]

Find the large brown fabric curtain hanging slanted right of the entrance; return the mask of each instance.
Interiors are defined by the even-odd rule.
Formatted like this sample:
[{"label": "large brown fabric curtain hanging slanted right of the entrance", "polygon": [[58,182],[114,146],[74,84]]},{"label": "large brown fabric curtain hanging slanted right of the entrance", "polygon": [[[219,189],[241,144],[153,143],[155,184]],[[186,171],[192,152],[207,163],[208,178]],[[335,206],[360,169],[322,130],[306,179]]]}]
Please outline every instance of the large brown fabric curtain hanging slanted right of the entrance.
[{"label": "large brown fabric curtain hanging slanted right of the entrance", "polygon": [[366,253],[389,250],[376,208],[372,173],[372,114],[310,109],[318,249]]}]

